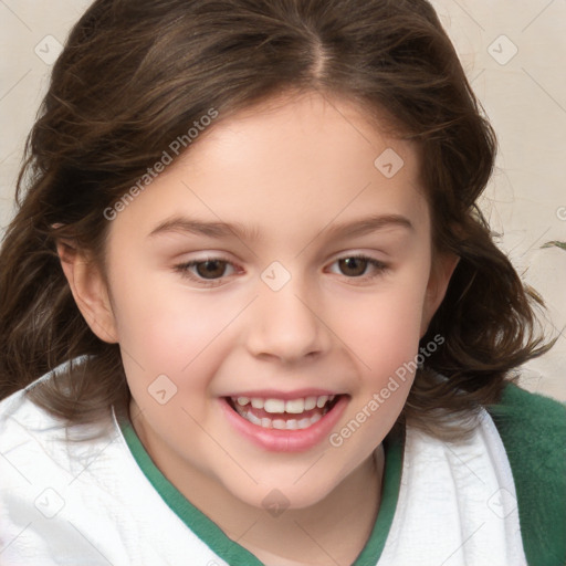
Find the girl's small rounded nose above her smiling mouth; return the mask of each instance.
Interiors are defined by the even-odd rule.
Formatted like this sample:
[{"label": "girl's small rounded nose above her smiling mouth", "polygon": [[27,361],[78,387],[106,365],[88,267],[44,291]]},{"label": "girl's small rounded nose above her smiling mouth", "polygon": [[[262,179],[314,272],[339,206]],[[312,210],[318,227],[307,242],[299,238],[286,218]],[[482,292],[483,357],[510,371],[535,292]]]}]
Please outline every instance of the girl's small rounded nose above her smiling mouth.
[{"label": "girl's small rounded nose above her smiling mouth", "polygon": [[248,349],[260,358],[291,364],[321,357],[331,346],[331,335],[319,304],[304,286],[291,280],[273,291],[263,283],[251,308]]}]

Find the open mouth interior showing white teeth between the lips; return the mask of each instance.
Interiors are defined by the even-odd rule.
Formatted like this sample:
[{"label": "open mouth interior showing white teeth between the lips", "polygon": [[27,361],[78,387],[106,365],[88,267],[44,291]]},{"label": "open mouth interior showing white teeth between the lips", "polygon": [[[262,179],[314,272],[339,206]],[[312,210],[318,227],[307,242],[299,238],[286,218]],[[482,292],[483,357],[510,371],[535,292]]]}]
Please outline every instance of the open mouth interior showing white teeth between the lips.
[{"label": "open mouth interior showing white teeth between the lips", "polygon": [[319,421],[343,395],[321,395],[297,399],[227,397],[228,405],[248,422],[264,429],[304,430]]}]

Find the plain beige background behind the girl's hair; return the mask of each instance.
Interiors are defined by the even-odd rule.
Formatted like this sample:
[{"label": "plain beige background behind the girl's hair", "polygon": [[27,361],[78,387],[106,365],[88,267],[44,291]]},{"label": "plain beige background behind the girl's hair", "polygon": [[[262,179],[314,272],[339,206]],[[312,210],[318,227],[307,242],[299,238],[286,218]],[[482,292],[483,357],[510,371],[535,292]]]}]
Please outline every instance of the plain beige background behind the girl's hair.
[{"label": "plain beige background behind the girl's hair", "polygon": [[[59,43],[86,0],[0,0],[0,227]],[[523,385],[566,400],[566,2],[434,0],[499,135],[497,169],[482,207],[501,247],[545,298],[553,350],[523,368]]]}]

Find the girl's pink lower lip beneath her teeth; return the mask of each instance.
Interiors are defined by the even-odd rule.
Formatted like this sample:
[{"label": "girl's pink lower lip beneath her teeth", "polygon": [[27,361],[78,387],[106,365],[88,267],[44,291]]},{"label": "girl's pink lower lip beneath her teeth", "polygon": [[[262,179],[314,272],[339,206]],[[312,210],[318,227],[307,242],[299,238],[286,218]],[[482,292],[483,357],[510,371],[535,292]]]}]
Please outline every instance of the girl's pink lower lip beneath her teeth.
[{"label": "girl's pink lower lip beneath her teeth", "polygon": [[[263,397],[263,395],[256,395],[259,391],[254,392],[254,397]],[[281,392],[277,396],[270,392],[271,396],[281,398]],[[265,397],[270,397],[270,395]],[[292,395],[296,395],[294,391]],[[324,394],[312,394],[314,395],[328,395]],[[332,395],[332,394],[331,394]],[[242,396],[240,396],[242,397]],[[303,397],[303,395],[297,395],[297,397]],[[305,397],[310,397],[308,395]],[[294,397],[290,397],[293,399]],[[230,405],[228,403],[226,397],[220,398],[220,407],[224,411],[224,415],[230,422],[230,424],[240,432],[243,437],[251,440],[253,443],[259,446],[264,450],[269,450],[271,452],[301,452],[305,450],[310,450],[311,448],[318,444],[325,438],[328,437],[333,427],[339,420],[344,410],[346,409],[346,405],[348,403],[349,397],[343,395],[333,407],[331,411],[328,411],[319,421],[315,422],[307,429],[302,430],[277,430],[277,429],[264,429],[258,424],[253,424],[250,421],[245,420],[243,417],[240,417],[238,412],[235,412]]]}]

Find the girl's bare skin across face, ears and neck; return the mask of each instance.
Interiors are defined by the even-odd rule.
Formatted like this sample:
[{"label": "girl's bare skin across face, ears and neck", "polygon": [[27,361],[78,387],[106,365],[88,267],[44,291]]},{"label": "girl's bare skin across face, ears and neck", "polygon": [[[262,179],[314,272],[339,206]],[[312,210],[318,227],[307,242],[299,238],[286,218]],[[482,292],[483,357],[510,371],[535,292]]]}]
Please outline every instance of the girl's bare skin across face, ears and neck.
[{"label": "girl's bare skin across face, ears and neck", "polygon": [[[405,161],[390,179],[374,165],[387,148]],[[219,119],[120,212],[104,274],[60,244],[85,319],[120,346],[130,417],[154,462],[265,564],[354,562],[379,506],[381,440],[413,376],[339,448],[325,439],[305,451],[268,452],[231,427],[219,398],[265,388],[339,391],[349,396],[339,431],[415,358],[457,263],[432,259],[418,179],[417,147],[369,125],[354,103],[282,96]],[[411,227],[332,234],[381,214]],[[149,235],[176,216],[240,223],[256,238]],[[368,263],[353,276],[337,261],[359,253],[385,269]],[[214,286],[176,268],[210,258],[233,264],[220,264]],[[280,291],[261,279],[274,261],[291,275]],[[197,277],[196,268],[189,273]],[[160,405],[148,387],[164,374],[177,392]],[[290,504],[279,517],[262,506],[275,489]]]}]

